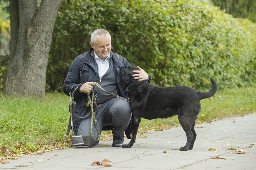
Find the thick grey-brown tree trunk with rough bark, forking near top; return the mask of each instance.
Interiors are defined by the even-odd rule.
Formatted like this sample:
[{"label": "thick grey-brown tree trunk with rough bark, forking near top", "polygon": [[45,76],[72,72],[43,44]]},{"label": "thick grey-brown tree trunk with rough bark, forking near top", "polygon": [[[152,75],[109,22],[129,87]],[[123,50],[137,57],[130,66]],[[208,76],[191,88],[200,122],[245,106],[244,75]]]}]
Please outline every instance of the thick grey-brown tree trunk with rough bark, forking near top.
[{"label": "thick grey-brown tree trunk with rough bark, forking near top", "polygon": [[52,32],[61,0],[10,0],[10,64],[3,93],[44,97]]}]

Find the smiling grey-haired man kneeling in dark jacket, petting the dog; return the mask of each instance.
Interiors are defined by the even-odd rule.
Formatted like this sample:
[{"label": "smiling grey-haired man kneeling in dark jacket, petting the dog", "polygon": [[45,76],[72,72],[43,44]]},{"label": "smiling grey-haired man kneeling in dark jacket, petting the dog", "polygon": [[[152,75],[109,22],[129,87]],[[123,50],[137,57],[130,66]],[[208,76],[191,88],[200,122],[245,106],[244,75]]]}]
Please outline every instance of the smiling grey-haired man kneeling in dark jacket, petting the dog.
[{"label": "smiling grey-haired man kneeling in dark jacket, petting the dog", "polygon": [[[66,80],[64,81],[63,91],[69,95],[74,93],[76,102],[76,116],[73,120],[74,133],[76,135],[90,136],[91,116],[90,109],[85,107],[87,93],[94,91],[95,101],[97,103],[96,119],[99,127],[99,134],[103,127],[111,127],[113,133],[112,147],[122,147],[124,131],[127,129],[131,120],[131,108],[128,102],[115,98],[109,93],[104,92],[93,82],[99,85],[107,92],[115,93],[127,98],[126,91],[123,88],[119,69],[121,66],[130,65],[128,61],[117,53],[111,52],[111,36],[104,29],[97,29],[91,34],[91,50],[79,55],[72,62]],[[80,78],[81,65],[82,78]],[[148,74],[138,67],[134,71],[134,79],[138,81],[147,80],[150,82]],[[81,82],[83,80],[83,82]],[[88,115],[86,118],[79,118]],[[109,129],[108,129],[109,130]],[[93,126],[93,137],[97,139],[98,132]],[[91,139],[90,147],[97,145],[99,140]]]}]

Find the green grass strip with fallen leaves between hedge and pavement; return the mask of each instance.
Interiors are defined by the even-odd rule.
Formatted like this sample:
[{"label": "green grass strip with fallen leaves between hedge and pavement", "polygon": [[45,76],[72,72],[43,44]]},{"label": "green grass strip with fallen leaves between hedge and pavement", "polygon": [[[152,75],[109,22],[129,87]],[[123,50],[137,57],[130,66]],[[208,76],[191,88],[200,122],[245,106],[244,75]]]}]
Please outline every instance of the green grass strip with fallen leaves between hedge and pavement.
[{"label": "green grass strip with fallen leaves between hedge and pavement", "polygon": [[[256,113],[256,87],[218,91],[201,100],[197,123]],[[0,157],[33,155],[71,146],[65,137],[69,121],[69,97],[48,93],[44,99],[3,97],[0,93]],[[142,119],[139,133],[179,126],[177,116],[167,119]],[[103,131],[101,139],[111,139]]]}]

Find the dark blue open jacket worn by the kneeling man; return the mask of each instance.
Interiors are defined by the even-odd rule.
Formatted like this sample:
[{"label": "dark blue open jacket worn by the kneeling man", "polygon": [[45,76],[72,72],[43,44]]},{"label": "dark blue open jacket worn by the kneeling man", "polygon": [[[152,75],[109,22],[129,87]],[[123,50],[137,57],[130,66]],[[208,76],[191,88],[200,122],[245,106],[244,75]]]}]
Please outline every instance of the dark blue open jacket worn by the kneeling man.
[{"label": "dark blue open jacket worn by the kneeling man", "polygon": [[[121,66],[129,66],[130,63],[128,63],[128,61],[125,58],[123,58],[121,55],[118,55],[117,53],[110,52],[110,55],[112,55],[111,59],[113,60],[114,73],[119,90],[118,95],[128,98],[126,91],[123,88],[123,82],[121,81],[119,70]],[[81,62],[85,64],[82,72],[83,82],[81,82],[80,79]],[[86,111],[88,111],[87,107],[84,106],[87,100],[87,95],[86,93],[81,93],[80,90],[75,89],[79,89],[78,87],[80,87],[81,85],[83,85],[83,83],[86,82],[99,82],[98,68],[94,59],[93,48],[89,50],[85,57],[84,54],[81,54],[75,58],[75,60],[71,64],[71,67],[69,68],[69,72],[67,73],[67,77],[63,85],[63,91],[66,95],[69,95],[69,92],[74,92],[74,101],[76,102],[75,113],[79,117],[84,117],[85,113],[87,113]],[[148,82],[150,82],[150,78]],[[75,134],[77,133],[81,120],[81,118],[74,117],[73,126]],[[130,125],[128,129],[131,129]],[[112,130],[112,128],[103,127],[103,130]]]}]

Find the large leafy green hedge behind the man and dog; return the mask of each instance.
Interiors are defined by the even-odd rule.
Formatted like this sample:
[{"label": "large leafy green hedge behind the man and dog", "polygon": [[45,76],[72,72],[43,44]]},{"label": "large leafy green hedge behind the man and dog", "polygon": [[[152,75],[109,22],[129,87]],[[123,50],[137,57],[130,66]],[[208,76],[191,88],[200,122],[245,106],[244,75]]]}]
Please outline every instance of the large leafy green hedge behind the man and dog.
[{"label": "large leafy green hedge behind the man and dog", "polygon": [[255,29],[248,32],[241,25],[219,8],[191,0],[63,1],[54,28],[48,88],[61,89],[72,60],[89,50],[90,34],[97,28],[107,29],[112,50],[140,65],[156,85],[209,88],[209,77],[220,88],[251,85]]}]

